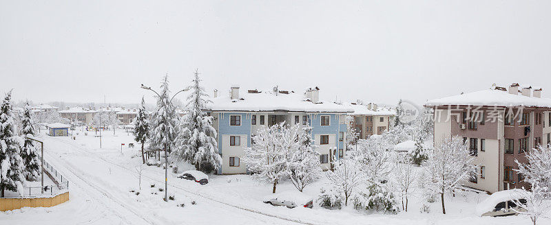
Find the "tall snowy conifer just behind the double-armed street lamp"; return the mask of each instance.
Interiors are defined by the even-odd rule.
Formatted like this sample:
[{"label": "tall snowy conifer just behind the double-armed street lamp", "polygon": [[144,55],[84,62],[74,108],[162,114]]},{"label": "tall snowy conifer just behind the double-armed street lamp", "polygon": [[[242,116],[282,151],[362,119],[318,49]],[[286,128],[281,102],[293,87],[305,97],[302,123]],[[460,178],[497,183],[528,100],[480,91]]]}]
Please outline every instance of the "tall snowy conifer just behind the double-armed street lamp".
[{"label": "tall snowy conifer just behind the double-armed street lamp", "polygon": [[[150,146],[171,152],[176,138],[176,109],[169,99],[168,75],[160,83],[160,97],[157,96],[157,110],[153,113],[150,134]],[[166,153],[165,152],[165,153]]]}]

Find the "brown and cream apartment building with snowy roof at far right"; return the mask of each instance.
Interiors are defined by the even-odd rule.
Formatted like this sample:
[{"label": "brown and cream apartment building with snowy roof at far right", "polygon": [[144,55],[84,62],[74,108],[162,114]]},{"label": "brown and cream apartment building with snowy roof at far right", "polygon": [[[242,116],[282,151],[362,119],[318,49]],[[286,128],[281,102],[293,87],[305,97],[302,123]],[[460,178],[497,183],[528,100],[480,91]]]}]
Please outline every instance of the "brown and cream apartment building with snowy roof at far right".
[{"label": "brown and cream apartment building with snowy roof at far right", "polygon": [[541,88],[511,84],[434,99],[426,107],[435,110],[434,141],[463,137],[477,171],[465,185],[496,192],[528,187],[515,160],[526,163],[526,152],[550,143],[551,99]]}]

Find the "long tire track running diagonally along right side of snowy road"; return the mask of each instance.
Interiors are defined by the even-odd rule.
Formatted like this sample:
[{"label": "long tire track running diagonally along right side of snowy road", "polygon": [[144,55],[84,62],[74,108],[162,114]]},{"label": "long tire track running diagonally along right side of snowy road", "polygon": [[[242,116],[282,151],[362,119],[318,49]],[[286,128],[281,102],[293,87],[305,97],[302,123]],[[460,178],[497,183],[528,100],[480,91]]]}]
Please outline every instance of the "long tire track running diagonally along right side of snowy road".
[{"label": "long tire track running diagonally along right side of snowy road", "polygon": [[[97,154],[92,154],[88,151],[86,151],[83,147],[79,146],[79,145],[76,145],[75,143],[72,143],[71,141],[65,141],[65,140],[59,140],[59,139],[53,139],[53,138],[49,138],[48,139],[50,140],[53,140],[53,141],[59,141],[61,143],[65,143],[67,145],[71,145],[73,147],[75,147],[76,149],[78,149],[80,152],[83,152],[85,154],[89,154],[89,155],[92,155],[92,156],[95,156],[96,158],[99,158],[101,159],[102,161],[105,161],[105,163],[109,163],[111,165],[114,165],[116,167],[121,167],[122,169],[125,169],[129,172],[131,172],[132,174],[136,174],[136,171],[132,171],[132,169],[128,169],[127,167],[123,167],[122,165],[118,165],[117,163],[114,163],[112,161],[109,161],[105,158],[103,158],[103,156],[100,156],[100,155],[97,155]],[[155,180],[156,182],[165,182],[165,180],[160,180],[158,178],[153,178],[152,176],[147,176],[147,175],[144,175],[142,174],[143,177],[145,178],[149,178],[151,180]],[[220,200],[217,200],[216,198],[213,198],[211,196],[206,196],[202,193],[196,193],[196,192],[193,192],[193,191],[189,191],[187,189],[185,189],[184,187],[178,187],[176,185],[173,185],[173,184],[169,184],[169,186],[171,187],[174,187],[176,189],[179,189],[181,191],[185,191],[189,194],[191,194],[192,196],[198,196],[198,197],[201,197],[201,198],[205,198],[207,200],[210,200],[212,202],[217,202],[219,204],[224,204],[225,206],[230,206],[230,207],[233,207],[233,208],[236,208],[236,209],[240,209],[242,211],[248,211],[249,213],[256,213],[258,215],[264,215],[264,216],[267,216],[267,217],[273,217],[273,218],[276,218],[276,219],[280,219],[280,220],[285,220],[287,222],[293,222],[293,223],[298,223],[298,224],[306,224],[306,225],[319,225],[319,224],[313,224],[311,222],[305,222],[305,221],[302,221],[302,220],[299,220],[299,219],[291,219],[291,218],[286,218],[286,217],[281,217],[279,215],[274,215],[274,214],[271,214],[271,213],[264,213],[262,211],[258,211],[256,209],[250,209],[250,208],[246,208],[246,207],[243,207],[243,206],[239,206],[239,205],[236,205],[236,204],[229,204],[227,202],[222,202]],[[191,196],[187,196],[187,197],[191,197]]]}]

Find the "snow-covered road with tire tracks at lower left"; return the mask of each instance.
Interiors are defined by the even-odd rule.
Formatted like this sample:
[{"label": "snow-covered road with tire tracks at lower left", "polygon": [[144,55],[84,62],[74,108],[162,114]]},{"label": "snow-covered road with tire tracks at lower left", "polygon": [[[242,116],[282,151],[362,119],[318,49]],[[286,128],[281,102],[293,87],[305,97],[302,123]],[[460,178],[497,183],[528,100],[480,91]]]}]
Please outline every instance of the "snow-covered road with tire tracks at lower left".
[{"label": "snow-covered road with tire tracks at lower left", "polygon": [[[178,208],[174,202],[160,201],[162,193],[150,202],[136,201],[127,191],[137,182],[133,168],[118,165],[102,156],[103,152],[87,149],[68,139],[44,139],[45,146],[48,146],[45,159],[71,182],[70,202],[57,208],[66,208],[62,210],[72,213],[49,209],[54,215],[59,215],[45,217],[41,220],[42,224],[59,224],[60,221],[63,224],[297,224],[216,200],[191,197],[194,196],[192,193],[173,185],[169,189],[175,187],[177,196],[195,198],[198,204]],[[145,172],[143,184],[152,181],[160,184],[163,179]],[[17,217],[17,214],[13,216]]]}]

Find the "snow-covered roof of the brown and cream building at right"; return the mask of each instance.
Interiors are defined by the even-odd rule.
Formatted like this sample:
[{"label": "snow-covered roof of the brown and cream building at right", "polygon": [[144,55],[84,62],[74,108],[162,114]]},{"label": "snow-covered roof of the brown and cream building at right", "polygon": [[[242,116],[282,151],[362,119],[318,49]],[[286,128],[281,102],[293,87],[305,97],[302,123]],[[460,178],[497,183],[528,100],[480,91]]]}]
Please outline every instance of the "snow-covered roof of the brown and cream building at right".
[{"label": "snow-covered roof of the brown and cream building at right", "polygon": [[508,91],[483,90],[427,101],[425,106],[533,106],[551,108],[551,99],[513,95]]}]

